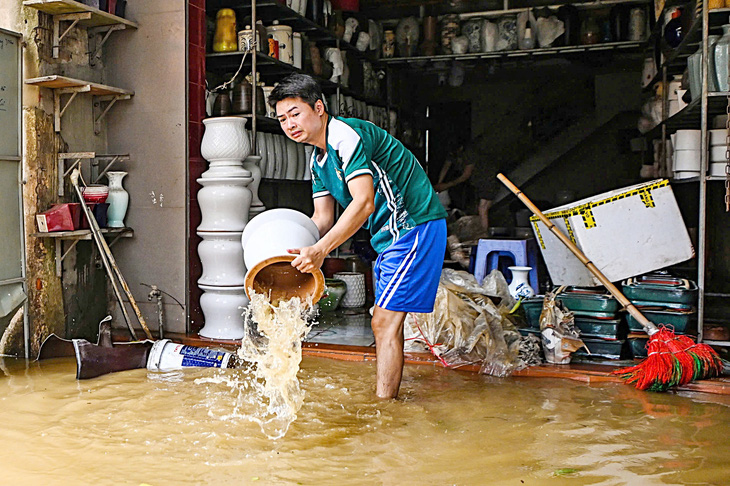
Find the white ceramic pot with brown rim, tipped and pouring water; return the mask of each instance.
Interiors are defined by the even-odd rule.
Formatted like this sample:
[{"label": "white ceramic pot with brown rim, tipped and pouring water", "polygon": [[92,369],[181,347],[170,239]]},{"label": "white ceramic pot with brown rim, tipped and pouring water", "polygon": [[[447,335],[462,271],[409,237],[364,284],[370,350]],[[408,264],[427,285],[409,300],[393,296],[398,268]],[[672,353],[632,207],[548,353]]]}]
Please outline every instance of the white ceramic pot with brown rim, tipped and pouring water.
[{"label": "white ceramic pot with brown rim, tipped and pouring water", "polygon": [[241,235],[246,267],[246,292],[268,293],[272,302],[312,297],[317,302],[324,291],[324,275],[301,273],[291,266],[296,255],[287,250],[311,246],[319,230],[305,214],[292,209],[270,209],[246,225]]}]

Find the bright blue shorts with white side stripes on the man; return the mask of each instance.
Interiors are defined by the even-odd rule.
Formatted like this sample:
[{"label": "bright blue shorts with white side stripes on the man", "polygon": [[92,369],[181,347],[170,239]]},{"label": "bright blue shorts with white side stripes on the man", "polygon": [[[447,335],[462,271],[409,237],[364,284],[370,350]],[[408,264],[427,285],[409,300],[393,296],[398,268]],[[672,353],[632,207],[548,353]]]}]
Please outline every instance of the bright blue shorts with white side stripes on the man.
[{"label": "bright blue shorts with white side stripes on the man", "polygon": [[446,252],[446,220],[419,224],[375,261],[375,305],[394,312],[433,312]]}]

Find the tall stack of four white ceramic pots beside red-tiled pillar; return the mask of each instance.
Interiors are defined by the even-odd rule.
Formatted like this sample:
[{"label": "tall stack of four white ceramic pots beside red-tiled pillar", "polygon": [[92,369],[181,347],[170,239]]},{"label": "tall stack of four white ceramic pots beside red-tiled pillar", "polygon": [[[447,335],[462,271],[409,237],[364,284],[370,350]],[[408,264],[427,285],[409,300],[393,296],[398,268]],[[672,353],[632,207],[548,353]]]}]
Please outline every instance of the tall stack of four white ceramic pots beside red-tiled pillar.
[{"label": "tall stack of four white ceramic pots beside red-tiled pillar", "polygon": [[198,245],[203,267],[198,287],[203,290],[200,307],[205,318],[199,334],[211,339],[241,339],[243,307],[248,305],[248,298],[240,241],[253,199],[248,188],[253,177],[243,161],[251,152],[251,141],[245,118],[207,118],[203,124],[200,153],[209,169],[198,179],[203,186],[197,197],[201,215],[197,233],[203,239]]}]

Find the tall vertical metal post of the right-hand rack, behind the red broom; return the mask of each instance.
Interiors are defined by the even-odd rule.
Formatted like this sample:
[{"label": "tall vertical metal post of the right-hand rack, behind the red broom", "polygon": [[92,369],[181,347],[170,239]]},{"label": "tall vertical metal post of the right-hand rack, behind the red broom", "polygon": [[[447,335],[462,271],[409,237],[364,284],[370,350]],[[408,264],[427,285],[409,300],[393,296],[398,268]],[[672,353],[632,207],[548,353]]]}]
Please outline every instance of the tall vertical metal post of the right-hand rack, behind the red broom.
[{"label": "tall vertical metal post of the right-hand rack, behind the red broom", "polygon": [[[707,36],[710,32],[709,13],[707,2],[702,2],[702,96],[700,109],[700,194],[699,194],[699,217],[698,217],[698,245],[697,249],[697,342],[702,342],[704,334],[703,325],[705,320],[705,265],[707,255],[707,71],[708,71],[708,49]],[[666,85],[665,85],[666,86]]]}]

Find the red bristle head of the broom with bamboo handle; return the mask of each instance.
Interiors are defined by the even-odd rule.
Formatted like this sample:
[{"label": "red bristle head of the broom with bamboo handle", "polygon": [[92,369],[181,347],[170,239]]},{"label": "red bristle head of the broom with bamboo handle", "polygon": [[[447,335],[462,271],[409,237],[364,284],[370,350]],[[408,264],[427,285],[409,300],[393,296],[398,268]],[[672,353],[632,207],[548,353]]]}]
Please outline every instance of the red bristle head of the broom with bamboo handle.
[{"label": "red bristle head of the broom with bamboo handle", "polygon": [[649,339],[647,358],[613,372],[639,390],[666,391],[694,380],[719,376],[722,360],[710,346],[676,335],[664,326]]}]

